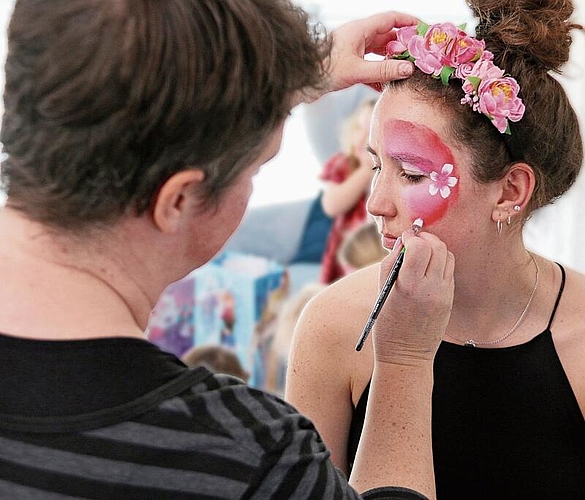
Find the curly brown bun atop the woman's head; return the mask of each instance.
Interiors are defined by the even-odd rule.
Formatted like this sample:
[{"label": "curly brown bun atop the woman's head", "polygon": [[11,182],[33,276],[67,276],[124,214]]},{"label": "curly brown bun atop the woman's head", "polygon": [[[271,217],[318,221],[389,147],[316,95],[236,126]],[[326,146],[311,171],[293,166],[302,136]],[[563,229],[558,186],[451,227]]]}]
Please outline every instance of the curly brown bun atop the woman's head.
[{"label": "curly brown bun atop the woman's head", "polygon": [[476,35],[498,65],[514,74],[526,65],[560,72],[569,60],[570,0],[468,0],[478,20]]}]

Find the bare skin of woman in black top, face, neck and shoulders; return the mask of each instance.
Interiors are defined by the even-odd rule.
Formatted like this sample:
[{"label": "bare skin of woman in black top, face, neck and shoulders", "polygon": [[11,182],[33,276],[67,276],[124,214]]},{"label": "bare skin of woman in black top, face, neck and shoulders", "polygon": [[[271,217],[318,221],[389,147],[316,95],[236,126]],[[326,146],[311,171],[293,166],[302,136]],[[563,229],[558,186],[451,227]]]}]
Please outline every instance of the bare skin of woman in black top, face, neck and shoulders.
[{"label": "bare skin of woman in black top, face, neck and shoulders", "polygon": [[[455,256],[455,296],[447,331],[458,338],[473,331],[477,340],[493,340],[515,323],[534,287],[534,265],[521,232],[534,174],[529,165],[518,163],[503,179],[478,184],[471,175],[469,150],[450,136],[448,119],[439,105],[422,102],[407,90],[384,92],[374,110],[370,133],[369,150],[377,172],[368,210],[376,218],[387,248],[424,212],[421,235],[439,237]],[[398,153],[410,156],[408,166],[397,161]],[[410,164],[416,163],[413,157],[433,168],[452,159],[451,175],[456,176],[457,184],[447,200],[435,195],[436,202],[429,202],[433,197],[426,172],[421,179],[409,178]],[[424,162],[417,161],[422,171]],[[522,211],[514,211],[514,205]],[[495,223],[504,222],[508,215],[512,224],[504,224],[498,236]],[[561,275],[554,263],[535,258],[539,287],[529,312],[514,334],[496,348],[523,344],[548,323]],[[352,411],[372,376],[375,359],[369,339],[360,352],[354,346],[376,300],[379,276],[385,273],[387,269],[380,272],[374,265],[320,293],[303,311],[293,339],[285,398],[313,420],[334,463],[346,472]],[[401,277],[402,271],[390,298],[402,290]],[[579,304],[584,299],[585,278],[569,270],[552,332],[582,411],[585,370],[579,358],[585,356],[585,327]],[[418,311],[424,314],[424,306]],[[394,325],[389,323],[387,328]],[[444,340],[454,342],[448,337]]]}]

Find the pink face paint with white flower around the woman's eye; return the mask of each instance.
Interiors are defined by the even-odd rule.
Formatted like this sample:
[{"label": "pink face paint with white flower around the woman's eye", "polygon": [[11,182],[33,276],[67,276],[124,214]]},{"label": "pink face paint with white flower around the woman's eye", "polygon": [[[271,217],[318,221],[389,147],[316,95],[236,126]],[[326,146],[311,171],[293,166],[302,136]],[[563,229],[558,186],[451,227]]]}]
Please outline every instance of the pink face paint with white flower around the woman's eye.
[{"label": "pink face paint with white flower around the woman's eye", "polygon": [[392,120],[384,126],[385,153],[400,162],[410,182],[402,196],[411,218],[425,226],[441,219],[459,191],[459,173],[451,150],[424,125]]}]

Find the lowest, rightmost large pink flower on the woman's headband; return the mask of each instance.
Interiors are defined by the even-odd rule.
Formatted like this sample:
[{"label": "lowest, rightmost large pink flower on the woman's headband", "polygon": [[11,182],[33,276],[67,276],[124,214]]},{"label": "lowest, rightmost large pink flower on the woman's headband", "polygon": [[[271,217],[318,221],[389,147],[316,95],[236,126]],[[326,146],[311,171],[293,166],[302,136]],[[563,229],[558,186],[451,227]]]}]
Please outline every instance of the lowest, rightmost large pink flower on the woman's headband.
[{"label": "lowest, rightmost large pink flower on the woman's headband", "polygon": [[508,131],[508,120],[517,122],[524,115],[519,91],[518,82],[511,77],[482,80],[477,89],[479,111],[502,133]]}]

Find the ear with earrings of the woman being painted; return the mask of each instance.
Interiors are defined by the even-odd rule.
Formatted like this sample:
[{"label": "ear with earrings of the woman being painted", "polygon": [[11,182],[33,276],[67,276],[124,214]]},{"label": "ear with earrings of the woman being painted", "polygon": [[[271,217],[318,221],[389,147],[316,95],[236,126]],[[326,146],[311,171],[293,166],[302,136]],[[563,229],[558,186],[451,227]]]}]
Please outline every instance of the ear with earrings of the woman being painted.
[{"label": "ear with earrings of the woman being painted", "polygon": [[536,176],[530,165],[514,163],[500,183],[500,198],[492,211],[492,220],[511,221],[524,211],[530,201],[536,186]]}]

